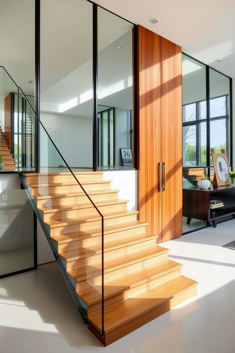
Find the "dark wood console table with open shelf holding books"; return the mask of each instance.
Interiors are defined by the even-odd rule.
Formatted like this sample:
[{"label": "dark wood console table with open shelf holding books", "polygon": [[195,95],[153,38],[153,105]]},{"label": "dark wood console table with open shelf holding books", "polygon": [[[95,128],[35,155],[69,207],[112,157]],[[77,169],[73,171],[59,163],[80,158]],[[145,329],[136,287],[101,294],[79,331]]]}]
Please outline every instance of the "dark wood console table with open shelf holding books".
[{"label": "dark wood console table with open shelf holding books", "polygon": [[[210,209],[210,200],[221,200],[224,207]],[[187,224],[192,218],[212,221],[216,227],[217,220],[225,216],[235,217],[235,187],[231,185],[210,186],[209,189],[196,187],[183,187],[183,216],[187,217]]]}]

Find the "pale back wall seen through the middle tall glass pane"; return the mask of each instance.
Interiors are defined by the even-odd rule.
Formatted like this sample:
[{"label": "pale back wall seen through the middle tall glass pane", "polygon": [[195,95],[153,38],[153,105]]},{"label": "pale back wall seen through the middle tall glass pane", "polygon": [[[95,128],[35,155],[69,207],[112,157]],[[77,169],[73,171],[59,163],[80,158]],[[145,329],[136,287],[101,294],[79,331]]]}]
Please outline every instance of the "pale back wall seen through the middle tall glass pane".
[{"label": "pale back wall seen through the middle tall glass pane", "polygon": [[62,129],[62,156],[70,167],[92,167],[92,119],[43,112],[40,119],[49,132]]}]

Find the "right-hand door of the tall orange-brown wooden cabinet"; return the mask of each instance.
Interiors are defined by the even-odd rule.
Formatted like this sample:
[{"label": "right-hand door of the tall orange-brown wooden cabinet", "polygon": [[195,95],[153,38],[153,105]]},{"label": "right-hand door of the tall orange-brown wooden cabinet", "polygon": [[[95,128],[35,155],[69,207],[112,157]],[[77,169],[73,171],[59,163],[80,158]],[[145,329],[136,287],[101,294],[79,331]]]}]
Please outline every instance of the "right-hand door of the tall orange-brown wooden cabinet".
[{"label": "right-hand door of the tall orange-brown wooden cabinet", "polygon": [[166,162],[166,191],[162,192],[162,241],[166,241],[182,235],[181,47],[162,37],[161,61],[162,161]]}]

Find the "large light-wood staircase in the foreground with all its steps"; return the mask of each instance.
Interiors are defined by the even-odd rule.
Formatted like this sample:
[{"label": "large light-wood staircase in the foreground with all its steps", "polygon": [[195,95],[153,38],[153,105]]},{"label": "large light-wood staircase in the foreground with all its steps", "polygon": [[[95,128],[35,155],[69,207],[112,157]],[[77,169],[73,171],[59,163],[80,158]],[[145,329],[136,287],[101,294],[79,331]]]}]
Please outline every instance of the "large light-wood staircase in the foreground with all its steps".
[{"label": "large light-wood staircase in the foreground with all its steps", "polygon": [[[50,232],[89,322],[101,329],[101,219],[70,173],[22,174]],[[181,264],[156,245],[147,223],[118,200],[103,172],[75,173],[104,216],[105,345],[118,340],[197,293],[197,282],[181,275]]]}]

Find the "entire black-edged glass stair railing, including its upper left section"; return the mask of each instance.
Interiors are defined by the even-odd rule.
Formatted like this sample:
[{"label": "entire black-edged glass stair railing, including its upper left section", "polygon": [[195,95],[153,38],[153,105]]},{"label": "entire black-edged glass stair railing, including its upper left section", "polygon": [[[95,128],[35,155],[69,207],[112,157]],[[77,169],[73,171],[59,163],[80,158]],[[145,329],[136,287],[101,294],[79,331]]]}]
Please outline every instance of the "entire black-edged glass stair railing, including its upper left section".
[{"label": "entire black-edged glass stair railing, including its upper left section", "polygon": [[[92,191],[92,180],[89,173],[69,167],[23,91],[4,68],[0,71],[2,97],[6,102],[9,95],[10,106],[14,107],[9,113],[9,124],[3,101],[5,114],[0,116],[3,120],[5,115],[2,135],[9,132],[13,137],[7,153],[15,160],[14,171],[20,173],[21,183],[84,321],[103,335],[104,217],[86,191]],[[4,137],[5,140],[8,139]]]}]

